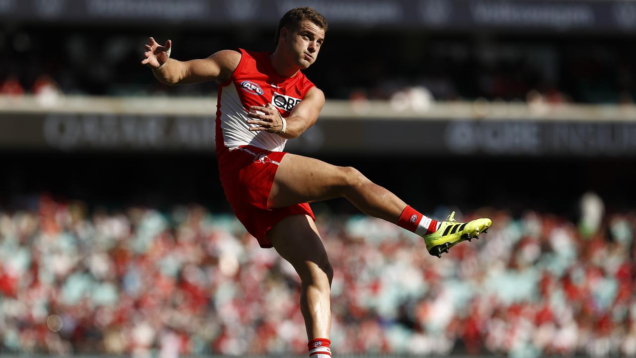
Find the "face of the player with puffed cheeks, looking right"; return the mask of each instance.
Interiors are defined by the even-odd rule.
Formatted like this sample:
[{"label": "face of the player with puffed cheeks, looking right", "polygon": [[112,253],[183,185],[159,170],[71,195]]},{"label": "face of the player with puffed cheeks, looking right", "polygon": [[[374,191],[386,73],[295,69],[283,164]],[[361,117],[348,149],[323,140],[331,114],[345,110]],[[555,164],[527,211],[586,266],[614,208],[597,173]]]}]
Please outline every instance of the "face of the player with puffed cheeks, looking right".
[{"label": "face of the player with puffed cheeks, looking right", "polygon": [[310,21],[302,21],[298,27],[287,32],[287,49],[291,61],[301,69],[316,61],[324,41],[324,30]]}]

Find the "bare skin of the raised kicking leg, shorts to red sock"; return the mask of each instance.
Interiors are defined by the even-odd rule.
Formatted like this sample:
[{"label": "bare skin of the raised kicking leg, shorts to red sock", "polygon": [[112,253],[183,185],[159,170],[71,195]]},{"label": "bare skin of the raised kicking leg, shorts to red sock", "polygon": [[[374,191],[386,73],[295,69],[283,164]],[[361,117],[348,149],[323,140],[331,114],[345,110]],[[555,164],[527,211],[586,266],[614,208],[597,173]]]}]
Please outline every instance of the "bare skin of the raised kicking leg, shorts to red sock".
[{"label": "bare skin of the raised kicking leg, shorts to red sock", "polygon": [[281,208],[334,197],[345,197],[363,213],[393,224],[406,207],[399,197],[372,183],[354,168],[333,166],[294,154],[286,154],[280,161],[268,205]]}]

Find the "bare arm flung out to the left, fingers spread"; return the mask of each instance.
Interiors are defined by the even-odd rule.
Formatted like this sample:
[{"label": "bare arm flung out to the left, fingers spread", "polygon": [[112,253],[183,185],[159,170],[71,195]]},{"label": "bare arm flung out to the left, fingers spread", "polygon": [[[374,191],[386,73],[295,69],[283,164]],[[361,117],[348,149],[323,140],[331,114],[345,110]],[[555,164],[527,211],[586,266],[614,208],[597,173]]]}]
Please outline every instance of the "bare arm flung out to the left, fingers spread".
[{"label": "bare arm flung out to the left, fingers spread", "polygon": [[161,46],[155,39],[148,39],[146,57],[141,64],[153,70],[153,75],[159,82],[167,85],[184,85],[187,83],[219,81],[226,82],[232,72],[239,66],[241,54],[233,50],[222,50],[207,57],[190,61],[170,59],[172,41],[168,40]]}]

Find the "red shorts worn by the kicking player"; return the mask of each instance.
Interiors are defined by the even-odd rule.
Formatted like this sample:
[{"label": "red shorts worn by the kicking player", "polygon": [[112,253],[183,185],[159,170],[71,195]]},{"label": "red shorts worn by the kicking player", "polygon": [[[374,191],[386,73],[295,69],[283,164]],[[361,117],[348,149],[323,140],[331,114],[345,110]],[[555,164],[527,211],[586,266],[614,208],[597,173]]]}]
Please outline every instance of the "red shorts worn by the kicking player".
[{"label": "red shorts worn by the kicking player", "polygon": [[235,150],[221,148],[217,151],[219,176],[234,213],[263,248],[272,247],[266,233],[278,222],[291,215],[314,213],[309,204],[296,204],[284,208],[267,208],[274,176],[286,152],[270,152],[251,145]]}]

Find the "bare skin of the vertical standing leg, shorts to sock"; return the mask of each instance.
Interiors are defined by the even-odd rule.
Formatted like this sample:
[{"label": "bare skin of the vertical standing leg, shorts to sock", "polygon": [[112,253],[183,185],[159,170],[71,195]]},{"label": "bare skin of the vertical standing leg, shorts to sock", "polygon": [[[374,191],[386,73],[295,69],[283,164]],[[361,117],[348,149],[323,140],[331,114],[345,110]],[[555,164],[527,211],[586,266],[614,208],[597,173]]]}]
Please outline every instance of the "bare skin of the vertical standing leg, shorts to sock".
[{"label": "bare skin of the vertical standing leg, shorts to sock", "polygon": [[300,276],[300,311],[308,341],[329,339],[333,269],[314,220],[306,215],[286,217],[268,231],[267,237]]}]

